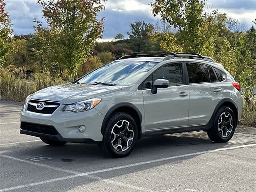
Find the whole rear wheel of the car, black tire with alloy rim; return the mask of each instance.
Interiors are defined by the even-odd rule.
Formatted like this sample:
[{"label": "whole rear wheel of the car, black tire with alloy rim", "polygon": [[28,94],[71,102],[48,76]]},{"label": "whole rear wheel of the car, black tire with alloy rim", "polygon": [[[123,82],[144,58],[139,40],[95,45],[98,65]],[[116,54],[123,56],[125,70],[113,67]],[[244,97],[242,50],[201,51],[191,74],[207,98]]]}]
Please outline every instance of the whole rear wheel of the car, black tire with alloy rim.
[{"label": "whole rear wheel of the car, black tire with alloy rim", "polygon": [[237,120],[232,109],[223,106],[216,113],[213,126],[207,131],[207,135],[214,142],[228,142],[234,135],[236,125]]}]

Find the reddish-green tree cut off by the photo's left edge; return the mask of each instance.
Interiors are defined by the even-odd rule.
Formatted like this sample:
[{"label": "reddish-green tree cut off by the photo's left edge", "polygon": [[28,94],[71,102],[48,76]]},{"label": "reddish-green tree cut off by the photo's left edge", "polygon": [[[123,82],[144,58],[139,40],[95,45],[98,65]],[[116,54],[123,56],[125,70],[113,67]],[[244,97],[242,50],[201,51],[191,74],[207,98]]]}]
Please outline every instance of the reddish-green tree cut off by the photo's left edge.
[{"label": "reddish-green tree cut off by the photo's left edge", "polygon": [[4,11],[4,0],[0,0],[0,66],[4,65],[4,60],[8,54],[8,40],[12,34],[9,14]]}]

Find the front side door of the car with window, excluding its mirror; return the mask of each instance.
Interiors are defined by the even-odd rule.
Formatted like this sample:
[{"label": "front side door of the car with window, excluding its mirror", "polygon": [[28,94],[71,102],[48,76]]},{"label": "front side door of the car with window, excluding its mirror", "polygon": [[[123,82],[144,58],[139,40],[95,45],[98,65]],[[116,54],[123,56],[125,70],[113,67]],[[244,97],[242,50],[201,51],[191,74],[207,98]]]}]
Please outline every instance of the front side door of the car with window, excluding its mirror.
[{"label": "front side door of the car with window, excluding its mirror", "polygon": [[[188,86],[184,85],[184,64],[172,63],[162,66],[143,83],[146,130],[168,129],[186,126],[188,123]],[[151,93],[156,79],[169,80],[168,88]]]}]

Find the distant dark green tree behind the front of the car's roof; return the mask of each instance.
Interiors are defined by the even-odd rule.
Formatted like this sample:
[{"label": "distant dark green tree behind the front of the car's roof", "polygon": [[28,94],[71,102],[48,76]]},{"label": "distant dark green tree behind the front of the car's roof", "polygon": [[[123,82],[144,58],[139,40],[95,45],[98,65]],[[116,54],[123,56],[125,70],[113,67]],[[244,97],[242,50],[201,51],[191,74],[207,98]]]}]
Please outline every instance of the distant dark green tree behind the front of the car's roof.
[{"label": "distant dark green tree behind the front of the car's roof", "polygon": [[129,38],[132,40],[134,51],[141,52],[150,50],[150,26],[152,24],[138,21],[131,23],[131,32],[127,32]]}]

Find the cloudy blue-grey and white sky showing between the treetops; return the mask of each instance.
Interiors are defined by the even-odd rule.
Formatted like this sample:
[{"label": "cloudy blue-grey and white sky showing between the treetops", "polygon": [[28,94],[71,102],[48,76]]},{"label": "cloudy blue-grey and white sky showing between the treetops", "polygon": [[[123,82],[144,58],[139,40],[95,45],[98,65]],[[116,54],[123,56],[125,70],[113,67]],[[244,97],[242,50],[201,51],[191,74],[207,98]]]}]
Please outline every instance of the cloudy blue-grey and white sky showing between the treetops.
[{"label": "cloudy blue-grey and white sky showing between the treetops", "polygon": [[[159,18],[154,18],[149,6],[150,0],[108,0],[106,10],[99,14],[105,17],[104,39],[112,39],[116,34],[130,30],[130,23],[144,20],[155,24]],[[256,19],[256,0],[208,0],[207,7],[226,12],[229,17],[245,23],[246,28],[252,26]],[[6,0],[6,11],[10,13],[15,34],[33,33],[33,19],[42,20],[41,7],[36,0]]]}]

